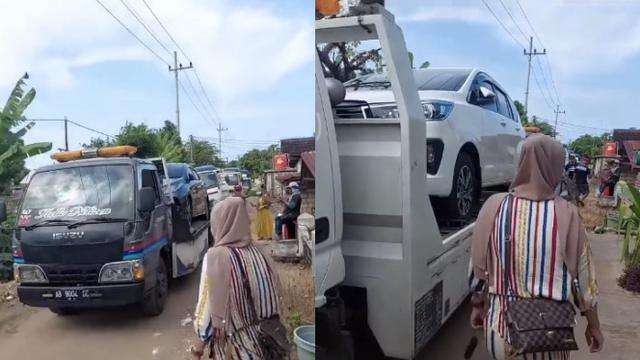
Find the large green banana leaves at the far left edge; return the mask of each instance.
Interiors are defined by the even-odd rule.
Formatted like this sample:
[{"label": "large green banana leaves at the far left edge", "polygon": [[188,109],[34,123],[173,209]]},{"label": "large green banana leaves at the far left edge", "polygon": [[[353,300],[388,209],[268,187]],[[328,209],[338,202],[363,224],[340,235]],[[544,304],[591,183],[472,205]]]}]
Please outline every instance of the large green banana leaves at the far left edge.
[{"label": "large green banana leaves at the far left edge", "polygon": [[[0,193],[5,193],[16,181],[23,178],[27,170],[24,159],[51,150],[50,142],[39,142],[25,145],[22,137],[35,126],[34,122],[27,122],[24,112],[36,96],[35,89],[27,93],[23,86],[29,78],[24,74],[16,83],[4,108],[0,112]],[[22,126],[22,127],[20,127]],[[18,127],[13,132],[12,129]]]}]

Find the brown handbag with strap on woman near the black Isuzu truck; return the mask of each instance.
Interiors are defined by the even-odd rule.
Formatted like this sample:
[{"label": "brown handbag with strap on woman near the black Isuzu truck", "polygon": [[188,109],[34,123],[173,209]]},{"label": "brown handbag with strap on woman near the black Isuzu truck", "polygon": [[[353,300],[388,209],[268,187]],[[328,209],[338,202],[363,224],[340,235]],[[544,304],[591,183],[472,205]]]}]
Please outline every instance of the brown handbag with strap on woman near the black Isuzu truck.
[{"label": "brown handbag with strap on woman near the black Isuzu truck", "polygon": [[253,303],[253,296],[251,295],[251,286],[249,285],[249,278],[242,265],[242,259],[240,258],[239,250],[231,248],[231,253],[236,257],[238,264],[240,265],[240,273],[242,276],[242,284],[247,294],[247,300],[249,302],[249,308],[252,319],[252,324],[259,325],[258,341],[260,342],[260,348],[265,360],[280,360],[286,359],[289,356],[289,341],[287,339],[287,329],[282,325],[279,315],[273,315],[268,319],[260,319],[256,314],[256,308]]}]

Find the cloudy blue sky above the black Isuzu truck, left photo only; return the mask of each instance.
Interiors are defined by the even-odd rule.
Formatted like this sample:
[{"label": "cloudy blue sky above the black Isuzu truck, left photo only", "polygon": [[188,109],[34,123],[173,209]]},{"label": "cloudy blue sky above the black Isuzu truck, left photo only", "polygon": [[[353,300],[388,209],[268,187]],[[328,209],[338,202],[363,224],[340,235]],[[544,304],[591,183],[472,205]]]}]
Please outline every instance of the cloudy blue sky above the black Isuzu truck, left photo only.
[{"label": "cloudy blue sky above the black Isuzu truck, left photo only", "polygon": [[[62,119],[109,135],[126,121],[175,121],[175,81],[166,61],[178,50],[142,0],[100,0],[163,60],[156,58],[96,0],[0,2],[0,101],[28,72],[37,91],[28,118]],[[146,0],[196,67],[180,72],[182,137],[212,138],[218,121],[223,156],[234,159],[269,142],[312,136],[313,8],[297,0]],[[168,48],[148,35],[125,4]],[[178,50],[179,62],[187,65]],[[191,81],[191,85],[188,83]],[[6,95],[5,95],[6,94]],[[195,106],[189,101],[190,96]],[[0,106],[2,106],[0,105]],[[196,110],[196,106],[202,112]],[[208,109],[208,110],[205,110]],[[215,110],[214,110],[215,109]],[[69,147],[101,136],[69,125]],[[38,122],[25,141],[64,147],[62,122]],[[27,160],[51,163],[48,154]]]}]

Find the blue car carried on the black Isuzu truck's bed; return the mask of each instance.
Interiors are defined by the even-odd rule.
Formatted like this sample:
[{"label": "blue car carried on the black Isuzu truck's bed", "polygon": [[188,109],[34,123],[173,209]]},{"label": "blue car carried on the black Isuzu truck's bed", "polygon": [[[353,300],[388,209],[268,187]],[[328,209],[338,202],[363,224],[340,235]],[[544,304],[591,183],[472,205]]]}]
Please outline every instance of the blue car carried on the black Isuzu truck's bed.
[{"label": "blue car carried on the black Isuzu truck's bed", "polygon": [[180,213],[189,224],[199,216],[209,216],[209,201],[204,182],[187,164],[168,163],[167,174],[171,181],[174,202],[180,207]]}]

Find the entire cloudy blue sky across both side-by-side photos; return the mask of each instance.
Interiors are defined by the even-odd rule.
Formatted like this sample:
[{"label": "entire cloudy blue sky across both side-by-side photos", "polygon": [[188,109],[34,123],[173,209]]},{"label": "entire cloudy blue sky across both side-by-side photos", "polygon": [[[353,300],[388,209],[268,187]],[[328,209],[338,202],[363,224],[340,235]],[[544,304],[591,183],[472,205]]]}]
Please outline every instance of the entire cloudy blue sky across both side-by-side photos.
[{"label": "entire cloudy blue sky across both side-by-side photos", "polygon": [[[175,46],[143,0],[100,1],[163,61],[172,62],[171,54],[124,6],[134,9],[173,51]],[[416,64],[482,68],[521,102],[527,75],[523,45],[533,35],[534,47],[546,48],[547,55],[534,57],[529,113],[553,123],[553,109],[560,103],[566,112],[559,116],[558,128],[564,142],[585,133],[638,126],[634,116],[640,82],[640,2],[484,1],[516,40],[482,0],[386,3]],[[216,140],[215,126],[221,121],[229,129],[223,133],[223,155],[233,159],[252,147],[313,134],[313,1],[146,2],[193,61],[219,115],[213,114],[202,92],[196,96],[190,88],[187,77],[199,88],[193,72],[181,71],[189,96],[205,114],[181,89],[183,138]],[[66,116],[107,134],[117,134],[126,121],[159,127],[164,120],[175,120],[173,73],[98,0],[0,2],[0,50],[0,97],[28,72],[28,85],[37,90],[29,118]],[[179,55],[186,65],[188,60]],[[69,127],[71,148],[92,136],[98,134]],[[52,141],[54,148],[63,147],[62,123],[40,122],[25,140]],[[50,162],[47,155],[40,155],[28,159],[27,165]]]}]

